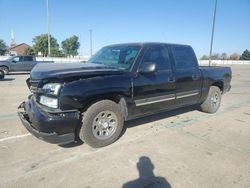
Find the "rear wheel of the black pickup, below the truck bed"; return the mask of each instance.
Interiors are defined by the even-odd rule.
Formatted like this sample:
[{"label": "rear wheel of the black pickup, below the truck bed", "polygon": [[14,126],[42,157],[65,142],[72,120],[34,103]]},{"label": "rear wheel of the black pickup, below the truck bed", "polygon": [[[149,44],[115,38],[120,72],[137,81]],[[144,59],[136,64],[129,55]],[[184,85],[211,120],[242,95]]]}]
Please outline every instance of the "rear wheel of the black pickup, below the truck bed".
[{"label": "rear wheel of the black pickup, below the truck bed", "polygon": [[215,113],[221,102],[221,90],[216,86],[209,88],[207,99],[201,104],[201,110],[207,113]]}]

